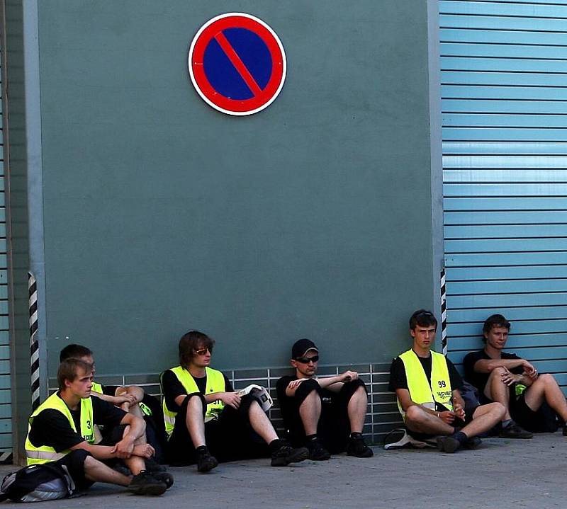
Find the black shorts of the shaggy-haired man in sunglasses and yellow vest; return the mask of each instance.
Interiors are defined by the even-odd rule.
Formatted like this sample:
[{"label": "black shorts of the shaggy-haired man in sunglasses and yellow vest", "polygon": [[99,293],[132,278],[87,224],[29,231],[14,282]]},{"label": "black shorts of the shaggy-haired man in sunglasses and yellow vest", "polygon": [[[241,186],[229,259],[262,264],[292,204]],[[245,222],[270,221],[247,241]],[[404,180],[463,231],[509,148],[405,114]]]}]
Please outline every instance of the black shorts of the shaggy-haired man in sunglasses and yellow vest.
[{"label": "black shorts of the shaggy-haired man in sunglasses and yellow vest", "polygon": [[[175,467],[196,462],[195,447],[186,427],[187,405],[191,397],[200,397],[203,402],[203,418],[206,406],[202,394],[189,394],[175,418],[175,427],[167,441],[167,461]],[[225,406],[218,419],[205,423],[205,441],[210,454],[219,462],[237,459],[251,459],[269,456],[269,447],[254,432],[248,418],[248,411],[254,396],[242,396],[240,407],[235,410]]]}]

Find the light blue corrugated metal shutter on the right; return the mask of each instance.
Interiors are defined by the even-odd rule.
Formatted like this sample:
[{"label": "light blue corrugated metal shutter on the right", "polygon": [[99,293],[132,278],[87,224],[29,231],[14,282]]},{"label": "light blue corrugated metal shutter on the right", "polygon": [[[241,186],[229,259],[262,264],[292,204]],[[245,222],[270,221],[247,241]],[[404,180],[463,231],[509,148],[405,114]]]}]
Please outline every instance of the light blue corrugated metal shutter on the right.
[{"label": "light blue corrugated metal shutter on the right", "polygon": [[567,1],[439,1],[447,333],[567,385]]}]

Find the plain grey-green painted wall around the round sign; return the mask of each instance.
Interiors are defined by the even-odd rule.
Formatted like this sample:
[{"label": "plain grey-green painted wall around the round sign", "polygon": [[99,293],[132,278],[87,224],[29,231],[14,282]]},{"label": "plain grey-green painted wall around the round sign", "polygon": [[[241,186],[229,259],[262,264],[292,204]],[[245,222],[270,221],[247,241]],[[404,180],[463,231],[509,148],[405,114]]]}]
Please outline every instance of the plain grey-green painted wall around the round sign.
[{"label": "plain grey-green painted wall around the round sign", "polygon": [[[189,81],[227,11],[278,33],[288,78],[232,118]],[[155,372],[189,328],[215,365],[383,362],[433,305],[425,1],[39,2],[50,372]]]}]

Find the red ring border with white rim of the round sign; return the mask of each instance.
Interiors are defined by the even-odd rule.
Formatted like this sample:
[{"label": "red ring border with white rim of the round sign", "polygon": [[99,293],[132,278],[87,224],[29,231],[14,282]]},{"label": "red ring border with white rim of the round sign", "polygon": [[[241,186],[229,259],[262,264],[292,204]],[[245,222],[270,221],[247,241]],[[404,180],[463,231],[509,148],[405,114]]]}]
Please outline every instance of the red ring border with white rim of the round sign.
[{"label": "red ring border with white rim of the round sign", "polygon": [[[272,72],[262,93],[250,99],[235,100],[222,96],[210,85],[203,66],[205,49],[220,30],[225,28],[246,28],[256,33],[271,55]],[[215,16],[196,33],[189,48],[189,75],[199,96],[215,110],[228,115],[252,115],[267,108],[276,100],[283,82],[286,81],[286,53],[283,45],[269,25],[259,18],[246,13],[225,13]]]}]

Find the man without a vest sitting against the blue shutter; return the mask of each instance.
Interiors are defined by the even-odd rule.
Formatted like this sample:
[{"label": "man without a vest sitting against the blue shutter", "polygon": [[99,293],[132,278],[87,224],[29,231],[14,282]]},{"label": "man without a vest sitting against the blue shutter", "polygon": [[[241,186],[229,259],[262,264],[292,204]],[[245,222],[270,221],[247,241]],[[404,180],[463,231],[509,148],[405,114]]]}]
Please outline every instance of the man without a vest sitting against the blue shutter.
[{"label": "man without a vest sitting against the blue shutter", "polygon": [[[547,431],[544,404],[567,420],[567,401],[553,374],[539,374],[527,360],[504,352],[510,322],[493,314],[484,322],[483,350],[468,353],[465,379],[474,385],[481,401],[498,401],[505,406],[500,437],[532,438],[532,432]],[[556,425],[549,430],[556,430]],[[567,435],[567,428],[563,428]]]}]

